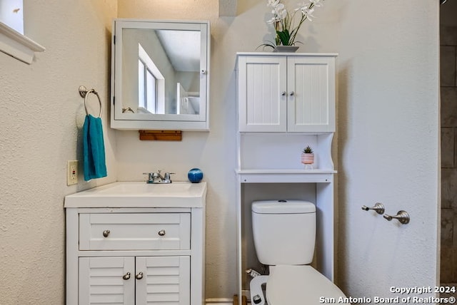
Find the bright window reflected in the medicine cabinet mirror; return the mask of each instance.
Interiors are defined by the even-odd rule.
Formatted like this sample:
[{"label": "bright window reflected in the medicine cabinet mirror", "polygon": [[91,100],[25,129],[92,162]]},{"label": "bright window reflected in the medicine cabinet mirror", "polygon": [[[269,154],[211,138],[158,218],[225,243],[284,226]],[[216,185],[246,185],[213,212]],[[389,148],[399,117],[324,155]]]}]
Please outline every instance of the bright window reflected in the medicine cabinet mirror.
[{"label": "bright window reflected in the medicine cabinet mirror", "polygon": [[149,113],[160,112],[164,108],[165,79],[148,53],[138,44],[138,97],[139,107]]}]

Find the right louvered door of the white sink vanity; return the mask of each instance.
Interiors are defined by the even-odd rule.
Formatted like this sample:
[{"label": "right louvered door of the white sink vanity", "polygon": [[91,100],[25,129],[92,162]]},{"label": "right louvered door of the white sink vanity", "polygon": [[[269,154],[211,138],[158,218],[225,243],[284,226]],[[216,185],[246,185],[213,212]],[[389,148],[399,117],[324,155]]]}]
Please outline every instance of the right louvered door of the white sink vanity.
[{"label": "right louvered door of the white sink vanity", "polygon": [[191,304],[190,257],[136,257],[136,304]]}]

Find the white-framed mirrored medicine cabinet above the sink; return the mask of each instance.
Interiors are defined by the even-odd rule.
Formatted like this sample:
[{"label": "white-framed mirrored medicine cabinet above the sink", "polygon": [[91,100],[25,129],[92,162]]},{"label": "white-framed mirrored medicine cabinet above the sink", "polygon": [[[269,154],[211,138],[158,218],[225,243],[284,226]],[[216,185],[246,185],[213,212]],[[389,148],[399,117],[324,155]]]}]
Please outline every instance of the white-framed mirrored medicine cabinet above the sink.
[{"label": "white-framed mirrored medicine cabinet above the sink", "polygon": [[114,20],[111,128],[209,130],[209,22]]}]

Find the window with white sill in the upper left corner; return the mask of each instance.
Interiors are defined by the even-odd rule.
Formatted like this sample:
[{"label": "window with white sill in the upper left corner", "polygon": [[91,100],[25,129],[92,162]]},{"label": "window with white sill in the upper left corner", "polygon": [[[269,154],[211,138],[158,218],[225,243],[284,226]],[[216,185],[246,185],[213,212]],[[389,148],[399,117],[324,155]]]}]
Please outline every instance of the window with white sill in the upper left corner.
[{"label": "window with white sill in the upper left corner", "polygon": [[0,0],[0,51],[31,63],[35,52],[45,48],[24,36],[22,0]]}]

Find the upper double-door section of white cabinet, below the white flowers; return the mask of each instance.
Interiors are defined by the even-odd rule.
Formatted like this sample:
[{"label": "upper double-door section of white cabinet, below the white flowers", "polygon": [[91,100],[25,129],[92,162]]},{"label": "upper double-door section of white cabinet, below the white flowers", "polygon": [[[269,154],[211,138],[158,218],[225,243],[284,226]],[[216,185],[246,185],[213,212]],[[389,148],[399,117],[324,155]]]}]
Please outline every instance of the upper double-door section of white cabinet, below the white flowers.
[{"label": "upper double-door section of white cabinet, below the white flowers", "polygon": [[335,57],[238,53],[238,130],[334,132]]}]

